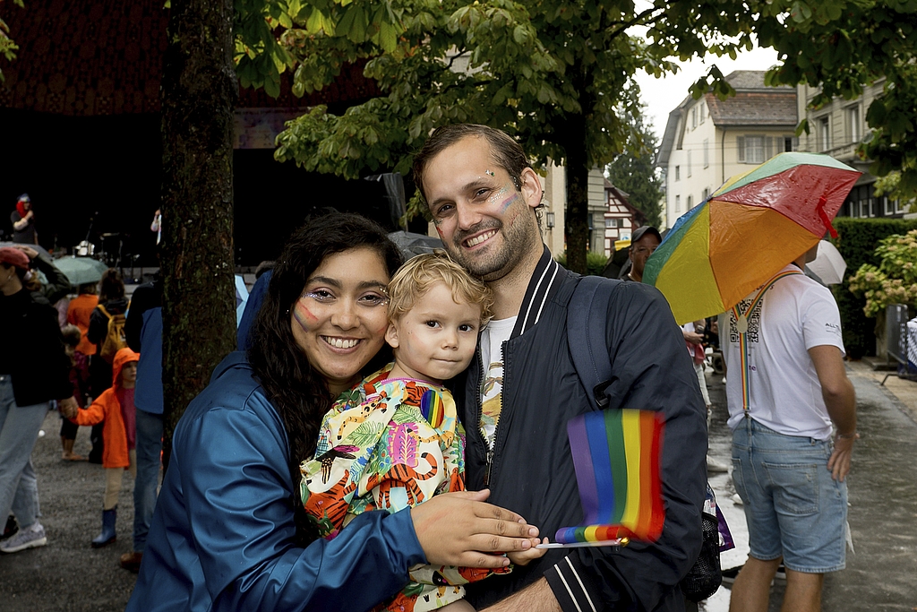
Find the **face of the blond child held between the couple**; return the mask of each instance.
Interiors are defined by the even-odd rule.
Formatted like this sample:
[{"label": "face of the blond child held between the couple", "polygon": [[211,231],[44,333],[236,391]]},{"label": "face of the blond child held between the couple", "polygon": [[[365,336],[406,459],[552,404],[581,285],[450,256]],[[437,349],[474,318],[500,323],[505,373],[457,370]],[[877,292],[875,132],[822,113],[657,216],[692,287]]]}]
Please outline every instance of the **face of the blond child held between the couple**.
[{"label": "face of the blond child held between the couple", "polygon": [[456,304],[447,285],[436,283],[389,323],[385,339],[406,373],[438,383],[468,367],[480,328],[481,305]]}]

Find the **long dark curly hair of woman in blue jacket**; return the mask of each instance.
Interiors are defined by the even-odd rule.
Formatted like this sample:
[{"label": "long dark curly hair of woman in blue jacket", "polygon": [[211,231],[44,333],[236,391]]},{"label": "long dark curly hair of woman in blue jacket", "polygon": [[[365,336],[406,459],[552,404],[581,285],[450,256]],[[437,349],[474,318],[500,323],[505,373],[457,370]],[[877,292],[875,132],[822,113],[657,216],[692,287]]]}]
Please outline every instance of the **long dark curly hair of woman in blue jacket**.
[{"label": "long dark curly hair of woman in blue jacket", "polygon": [[315,452],[318,428],[331,407],[331,397],[325,378],[296,344],[290,310],[328,255],[360,247],[376,250],[390,276],[402,263],[401,252],[385,230],[367,218],[332,213],[307,221],[283,248],[252,328],[249,363],[280,414],[290,443],[293,516],[300,546],[315,540],[318,532],[307,520],[300,499],[299,465]]}]

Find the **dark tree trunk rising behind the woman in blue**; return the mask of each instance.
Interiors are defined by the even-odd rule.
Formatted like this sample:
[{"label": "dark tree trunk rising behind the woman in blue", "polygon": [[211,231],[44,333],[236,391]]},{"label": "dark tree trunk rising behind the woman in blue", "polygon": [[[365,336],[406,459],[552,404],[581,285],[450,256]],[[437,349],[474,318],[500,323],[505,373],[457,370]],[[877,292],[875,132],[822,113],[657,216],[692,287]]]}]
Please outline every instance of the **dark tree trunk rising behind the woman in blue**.
[{"label": "dark tree trunk rising behind the woman in blue", "polygon": [[188,403],[236,348],[231,0],[172,0],[162,73],[163,459]]}]

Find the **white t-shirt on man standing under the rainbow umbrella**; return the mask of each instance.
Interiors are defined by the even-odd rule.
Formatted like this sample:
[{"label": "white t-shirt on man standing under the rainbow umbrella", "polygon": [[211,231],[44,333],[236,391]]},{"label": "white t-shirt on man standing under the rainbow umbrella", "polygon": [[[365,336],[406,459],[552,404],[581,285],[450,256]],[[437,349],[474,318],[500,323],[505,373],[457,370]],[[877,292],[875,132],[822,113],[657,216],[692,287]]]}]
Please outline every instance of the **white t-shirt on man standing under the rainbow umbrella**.
[{"label": "white t-shirt on man standing under the rainbow umbrella", "polygon": [[[799,270],[790,264],[784,271]],[[738,306],[744,312],[757,291]],[[831,437],[809,349],[835,346],[844,353],[841,316],[834,295],[802,274],[779,279],[747,317],[749,412],[762,425],[787,436]],[[726,399],[730,428],[742,418],[742,362],[732,311],[720,315],[720,346],[728,368]]]}]

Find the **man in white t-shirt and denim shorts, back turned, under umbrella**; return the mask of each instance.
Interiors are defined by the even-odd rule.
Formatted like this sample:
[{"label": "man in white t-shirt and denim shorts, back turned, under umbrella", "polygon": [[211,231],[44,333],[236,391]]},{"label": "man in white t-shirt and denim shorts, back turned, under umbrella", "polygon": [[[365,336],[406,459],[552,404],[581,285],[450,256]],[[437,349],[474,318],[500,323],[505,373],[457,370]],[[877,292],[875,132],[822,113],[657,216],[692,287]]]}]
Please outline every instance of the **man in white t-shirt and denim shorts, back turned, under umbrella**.
[{"label": "man in white t-shirt and denim shorts, back turned, under umbrella", "polygon": [[736,612],[768,609],[781,559],[782,609],[800,612],[821,609],[823,574],[845,566],[844,478],[857,438],[856,395],[837,305],[802,273],[806,261],[803,254],[721,316],[733,480],[751,549],[733,585],[729,609]]}]

